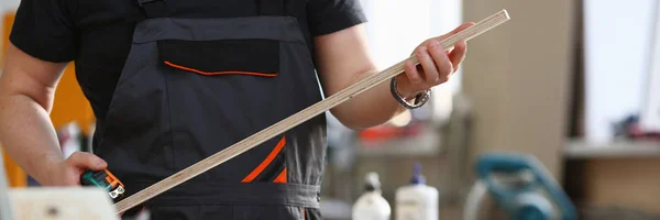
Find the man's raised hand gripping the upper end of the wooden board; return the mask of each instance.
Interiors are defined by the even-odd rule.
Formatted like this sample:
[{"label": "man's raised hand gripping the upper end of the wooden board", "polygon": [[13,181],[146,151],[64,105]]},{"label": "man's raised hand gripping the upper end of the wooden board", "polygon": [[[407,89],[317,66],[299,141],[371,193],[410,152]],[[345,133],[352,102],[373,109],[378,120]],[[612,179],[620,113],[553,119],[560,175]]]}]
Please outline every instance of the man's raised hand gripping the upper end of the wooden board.
[{"label": "man's raised hand gripping the upper end of the wooden board", "polygon": [[420,64],[415,66],[413,62],[406,62],[405,74],[397,76],[398,92],[406,98],[413,98],[421,91],[447,82],[465,58],[468,44],[461,41],[452,50],[446,50],[439,42],[472,25],[472,22],[464,23],[444,35],[421,43],[414,52]]}]

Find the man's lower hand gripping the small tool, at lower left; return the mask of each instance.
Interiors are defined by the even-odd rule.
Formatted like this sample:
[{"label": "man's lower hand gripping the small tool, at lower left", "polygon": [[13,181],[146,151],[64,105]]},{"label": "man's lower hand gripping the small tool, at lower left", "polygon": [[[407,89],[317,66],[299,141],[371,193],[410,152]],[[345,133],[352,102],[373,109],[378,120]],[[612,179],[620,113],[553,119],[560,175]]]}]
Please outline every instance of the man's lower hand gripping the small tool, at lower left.
[{"label": "man's lower hand gripping the small tool, at lower left", "polygon": [[57,163],[45,174],[44,186],[79,186],[85,170],[103,170],[108,164],[97,155],[75,152],[67,160]]}]

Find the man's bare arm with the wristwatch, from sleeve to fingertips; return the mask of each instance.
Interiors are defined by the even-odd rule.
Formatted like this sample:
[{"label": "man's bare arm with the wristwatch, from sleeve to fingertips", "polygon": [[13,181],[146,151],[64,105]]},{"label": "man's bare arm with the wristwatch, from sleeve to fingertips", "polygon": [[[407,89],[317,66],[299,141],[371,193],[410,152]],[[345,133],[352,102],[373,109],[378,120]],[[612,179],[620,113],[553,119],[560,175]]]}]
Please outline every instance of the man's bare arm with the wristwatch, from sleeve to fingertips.
[{"label": "man's bare arm with the wristwatch, from sleeve to fingertips", "polygon": [[[463,24],[452,33],[472,24]],[[415,67],[413,63],[408,63],[406,73],[397,76],[397,90],[402,95],[413,98],[420,91],[446,82],[458,69],[465,55],[466,45],[462,42],[457,44],[453,51],[446,52],[439,45],[433,45],[443,37],[446,35],[429,38],[415,50],[414,53],[419,57],[421,65]],[[378,73],[369,55],[363,25],[318,36],[316,47],[321,84],[327,96],[337,94],[350,85]],[[398,105],[389,91],[389,81],[331,110],[338,120],[354,130],[385,123],[404,111],[405,109]]]}]

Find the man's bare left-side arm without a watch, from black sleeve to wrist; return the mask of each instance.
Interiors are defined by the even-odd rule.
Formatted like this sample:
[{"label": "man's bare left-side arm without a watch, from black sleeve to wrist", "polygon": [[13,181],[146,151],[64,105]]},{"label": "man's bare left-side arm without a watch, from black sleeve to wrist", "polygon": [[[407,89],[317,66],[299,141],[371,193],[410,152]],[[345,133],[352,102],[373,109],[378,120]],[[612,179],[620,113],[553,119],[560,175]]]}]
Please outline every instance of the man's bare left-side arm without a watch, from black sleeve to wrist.
[{"label": "man's bare left-side arm without a watch, from black sleeve to wrist", "polygon": [[75,174],[59,166],[65,165],[65,158],[48,117],[65,66],[34,58],[10,44],[0,76],[0,142],[43,185],[75,182]]}]

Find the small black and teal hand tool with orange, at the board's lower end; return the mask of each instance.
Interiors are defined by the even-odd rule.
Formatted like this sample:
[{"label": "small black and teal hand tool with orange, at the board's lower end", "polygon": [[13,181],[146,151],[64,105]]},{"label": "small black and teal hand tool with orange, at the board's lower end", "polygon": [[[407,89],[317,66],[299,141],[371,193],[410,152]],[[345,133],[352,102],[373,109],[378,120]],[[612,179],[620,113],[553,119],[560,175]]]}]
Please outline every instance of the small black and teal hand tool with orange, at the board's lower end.
[{"label": "small black and teal hand tool with orange, at the board's lower end", "polygon": [[120,199],[125,193],[124,185],[110,170],[100,172],[87,170],[80,176],[82,186],[97,186],[108,190],[108,195],[113,200]]}]

